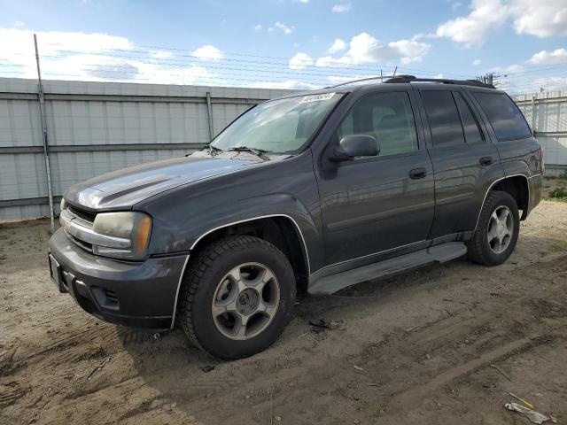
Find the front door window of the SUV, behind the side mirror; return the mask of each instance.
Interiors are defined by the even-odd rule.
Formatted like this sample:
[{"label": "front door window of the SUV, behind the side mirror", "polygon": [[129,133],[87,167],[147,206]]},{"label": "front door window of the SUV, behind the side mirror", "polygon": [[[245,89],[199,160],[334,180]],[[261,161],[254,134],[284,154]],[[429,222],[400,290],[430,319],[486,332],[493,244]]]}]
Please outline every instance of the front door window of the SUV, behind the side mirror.
[{"label": "front door window of the SUV, behind the side mirror", "polygon": [[417,151],[416,120],[405,91],[363,97],[337,130],[337,142],[346,135],[373,135],[380,156]]}]

